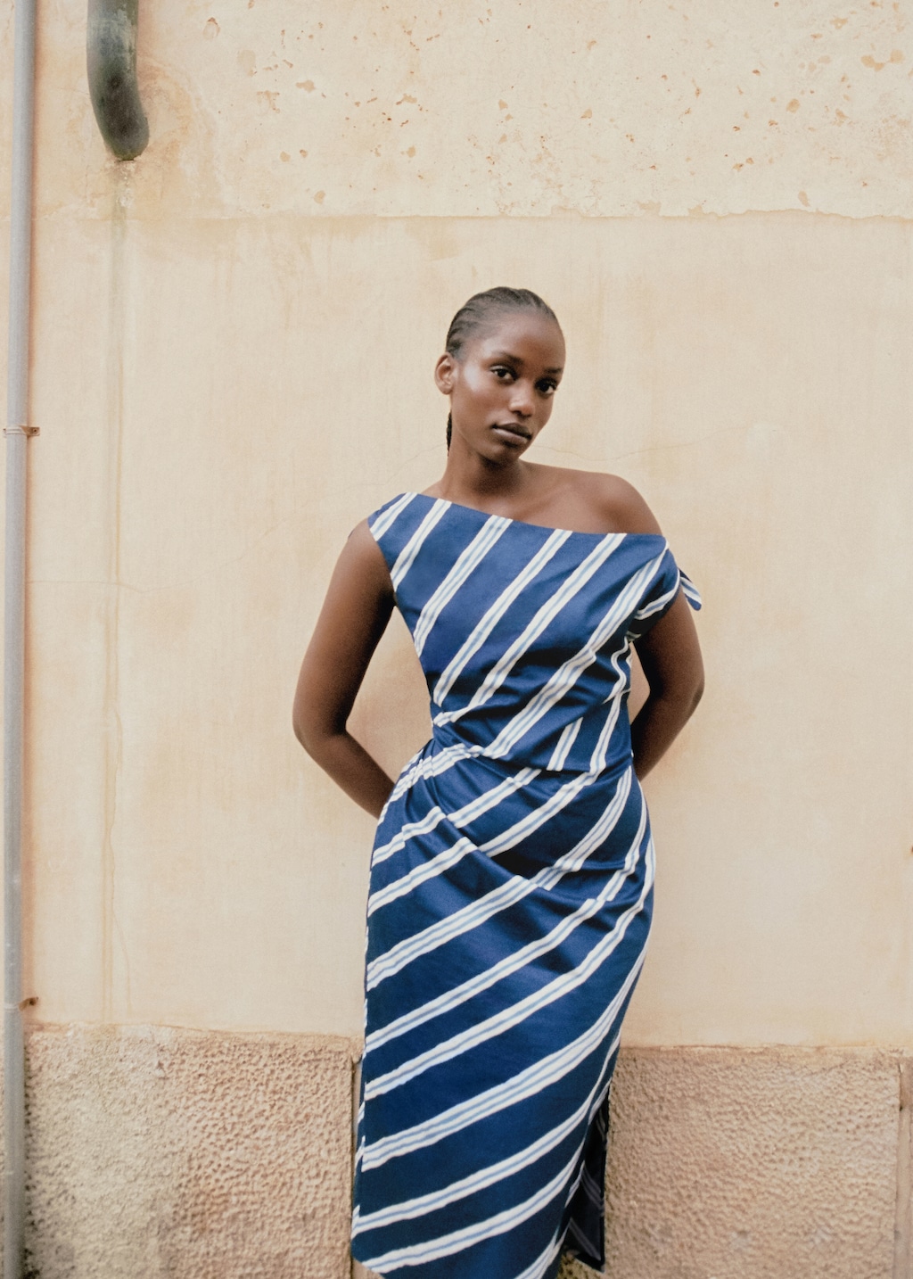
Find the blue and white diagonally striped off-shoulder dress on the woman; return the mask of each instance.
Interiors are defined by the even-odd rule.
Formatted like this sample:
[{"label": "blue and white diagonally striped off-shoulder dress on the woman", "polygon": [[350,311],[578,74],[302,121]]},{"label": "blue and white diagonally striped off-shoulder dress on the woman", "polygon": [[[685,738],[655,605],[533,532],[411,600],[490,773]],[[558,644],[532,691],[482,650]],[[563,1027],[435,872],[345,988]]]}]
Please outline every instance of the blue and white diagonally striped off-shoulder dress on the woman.
[{"label": "blue and white diagonally striped off-shoulder dress on the woman", "polygon": [[368,521],[431,694],[371,863],[353,1255],[381,1275],[601,1266],[609,1083],[650,931],[630,646],[660,536],[407,492]]}]

